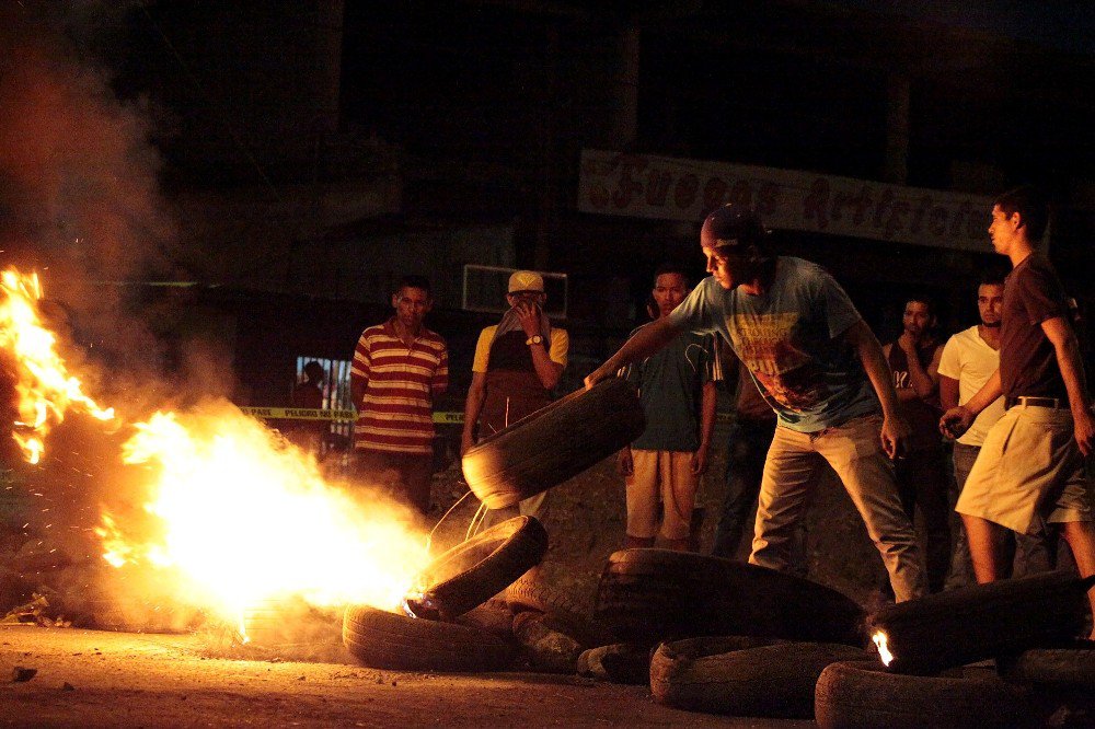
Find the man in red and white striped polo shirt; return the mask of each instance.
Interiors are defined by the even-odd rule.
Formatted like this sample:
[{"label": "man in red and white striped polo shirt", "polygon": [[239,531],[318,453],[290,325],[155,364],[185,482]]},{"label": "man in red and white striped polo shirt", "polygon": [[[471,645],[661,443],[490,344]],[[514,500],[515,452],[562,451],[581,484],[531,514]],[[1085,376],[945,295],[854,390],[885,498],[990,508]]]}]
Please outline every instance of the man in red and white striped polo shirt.
[{"label": "man in red and white striped polo shirt", "polygon": [[433,402],[449,386],[445,339],[423,326],[433,305],[429,281],[405,277],[392,296],[395,315],[361,333],[350,368],[358,476],[424,514],[434,461]]}]

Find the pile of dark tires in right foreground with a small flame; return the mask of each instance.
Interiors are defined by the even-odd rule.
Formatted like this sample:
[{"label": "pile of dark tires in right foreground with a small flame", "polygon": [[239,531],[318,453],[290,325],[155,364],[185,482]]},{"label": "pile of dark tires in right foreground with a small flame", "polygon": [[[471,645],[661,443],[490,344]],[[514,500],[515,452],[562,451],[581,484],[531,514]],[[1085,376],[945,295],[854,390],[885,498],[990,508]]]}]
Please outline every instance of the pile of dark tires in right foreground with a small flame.
[{"label": "pile of dark tires in right foreground with a small flame", "polygon": [[[648,676],[655,701],[668,706],[738,717],[822,727],[1091,726],[1095,645],[1061,647],[1082,628],[1091,583],[1038,576],[867,617],[808,580],[629,549],[610,557],[595,611],[621,643],[587,651],[579,666],[621,683]],[[877,633],[892,651],[888,666],[865,649]],[[1007,657],[996,661],[1000,676],[986,661],[999,656]]]}]

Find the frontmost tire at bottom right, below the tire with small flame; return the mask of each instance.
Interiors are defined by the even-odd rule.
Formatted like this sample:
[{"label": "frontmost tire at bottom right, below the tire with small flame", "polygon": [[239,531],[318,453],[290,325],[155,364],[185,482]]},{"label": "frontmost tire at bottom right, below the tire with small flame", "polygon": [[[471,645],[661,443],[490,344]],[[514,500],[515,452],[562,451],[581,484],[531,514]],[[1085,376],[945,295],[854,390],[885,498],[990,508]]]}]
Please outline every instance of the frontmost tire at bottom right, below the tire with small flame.
[{"label": "frontmost tire at bottom right, below the tire with small flame", "polygon": [[833,663],[818,678],[819,727],[1035,726],[1027,692],[999,679],[889,673],[878,661]]}]

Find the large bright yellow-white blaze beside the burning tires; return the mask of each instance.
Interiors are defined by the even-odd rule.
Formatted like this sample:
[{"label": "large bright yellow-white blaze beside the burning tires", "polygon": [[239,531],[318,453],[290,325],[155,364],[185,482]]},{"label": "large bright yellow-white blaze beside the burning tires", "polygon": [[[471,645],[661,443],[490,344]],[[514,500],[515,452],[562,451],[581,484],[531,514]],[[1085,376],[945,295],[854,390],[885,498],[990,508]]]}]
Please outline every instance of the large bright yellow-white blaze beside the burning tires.
[{"label": "large bright yellow-white blaze beside the burning tires", "polygon": [[288,594],[395,611],[427,562],[426,537],[405,512],[374,496],[362,509],[228,403],[157,413],[136,428],[124,458],[157,472],[146,509],[162,539],[127,542],[106,514],[104,558],[171,567],[224,617]]}]

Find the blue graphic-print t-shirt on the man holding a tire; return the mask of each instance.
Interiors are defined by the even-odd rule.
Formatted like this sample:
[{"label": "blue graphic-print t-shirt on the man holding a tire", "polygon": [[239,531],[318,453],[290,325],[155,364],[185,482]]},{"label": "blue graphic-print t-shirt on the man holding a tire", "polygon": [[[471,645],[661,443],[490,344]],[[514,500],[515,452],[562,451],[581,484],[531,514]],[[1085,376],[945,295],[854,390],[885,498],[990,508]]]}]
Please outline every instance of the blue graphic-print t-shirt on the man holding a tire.
[{"label": "blue graphic-print t-shirt on the man holding a tire", "polygon": [[745,362],[780,425],[817,432],[880,410],[858,355],[840,335],[862,317],[817,264],[780,256],[769,290],[727,291],[713,277],[669,315],[675,326],[719,332]]}]

